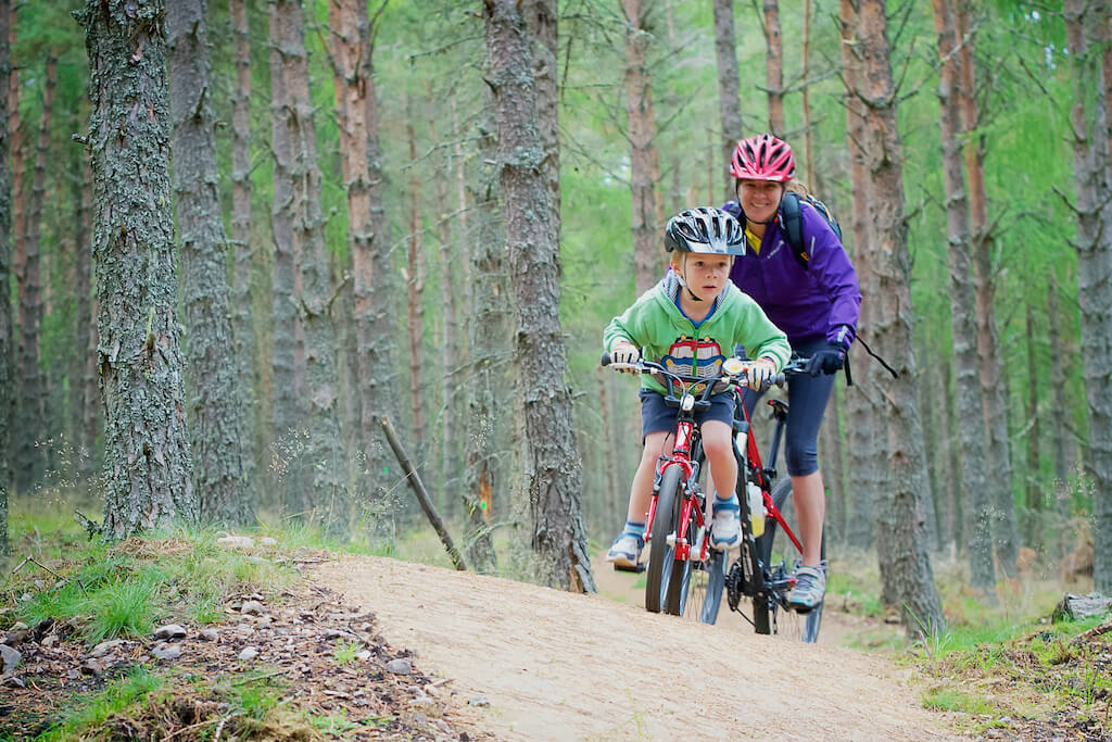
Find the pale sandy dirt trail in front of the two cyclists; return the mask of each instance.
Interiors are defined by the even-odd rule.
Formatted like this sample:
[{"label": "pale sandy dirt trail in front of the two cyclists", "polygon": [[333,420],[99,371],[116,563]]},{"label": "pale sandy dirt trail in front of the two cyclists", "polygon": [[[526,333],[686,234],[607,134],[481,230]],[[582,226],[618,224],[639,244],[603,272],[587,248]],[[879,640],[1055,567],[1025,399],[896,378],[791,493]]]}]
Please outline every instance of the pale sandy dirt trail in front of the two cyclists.
[{"label": "pale sandy dirt trail in front of the two cyclists", "polygon": [[389,558],[316,574],[464,700],[489,701],[466,713],[498,739],[951,739],[890,664],[851,650]]}]

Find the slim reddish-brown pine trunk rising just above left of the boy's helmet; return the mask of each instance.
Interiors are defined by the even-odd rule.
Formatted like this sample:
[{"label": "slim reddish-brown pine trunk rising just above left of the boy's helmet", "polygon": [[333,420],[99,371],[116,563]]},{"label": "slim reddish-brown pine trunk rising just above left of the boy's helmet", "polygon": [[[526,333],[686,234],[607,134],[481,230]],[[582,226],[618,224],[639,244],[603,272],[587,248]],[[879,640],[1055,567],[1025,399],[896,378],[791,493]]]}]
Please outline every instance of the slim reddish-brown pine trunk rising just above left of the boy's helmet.
[{"label": "slim reddish-brown pine trunk rising just above left of the boy's helmet", "polygon": [[663,250],[656,225],[656,196],[653,182],[653,137],[656,115],[653,110],[648,44],[652,33],[645,26],[653,0],[622,0],[626,21],[626,119],[629,137],[629,188],[633,194],[634,280],[637,296],[661,278]]}]

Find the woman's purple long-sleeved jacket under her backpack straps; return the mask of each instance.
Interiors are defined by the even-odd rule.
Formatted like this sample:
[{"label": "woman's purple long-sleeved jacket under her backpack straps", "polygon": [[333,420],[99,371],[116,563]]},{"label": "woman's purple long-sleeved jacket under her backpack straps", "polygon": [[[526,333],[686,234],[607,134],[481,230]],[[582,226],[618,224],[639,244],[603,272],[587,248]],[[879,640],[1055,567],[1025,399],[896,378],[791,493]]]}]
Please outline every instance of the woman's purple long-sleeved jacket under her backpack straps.
[{"label": "woman's purple long-sleeved jacket under her backpack straps", "polygon": [[[761,253],[746,250],[734,260],[729,277],[752,296],[793,346],[827,339],[848,347],[861,315],[861,288],[837,235],[806,202],[800,204],[803,240],[811,256],[800,265],[778,222],[770,224]],[[735,201],[722,207],[735,217]]]}]

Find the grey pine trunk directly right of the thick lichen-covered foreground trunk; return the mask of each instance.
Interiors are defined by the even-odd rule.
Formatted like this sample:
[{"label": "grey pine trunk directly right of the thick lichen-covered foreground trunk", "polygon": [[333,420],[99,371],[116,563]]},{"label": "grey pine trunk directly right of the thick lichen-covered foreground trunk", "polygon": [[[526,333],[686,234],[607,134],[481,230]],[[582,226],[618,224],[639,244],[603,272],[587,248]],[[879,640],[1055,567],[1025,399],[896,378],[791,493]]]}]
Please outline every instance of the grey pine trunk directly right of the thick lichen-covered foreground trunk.
[{"label": "grey pine trunk directly right of the thick lichen-covered foreground trunk", "polygon": [[206,0],[167,6],[173,192],[181,235],[182,303],[189,328],[188,407],[193,489],[201,518],[245,525],[256,503],[244,476],[244,398],[228,300],[227,239],[220,219]]}]

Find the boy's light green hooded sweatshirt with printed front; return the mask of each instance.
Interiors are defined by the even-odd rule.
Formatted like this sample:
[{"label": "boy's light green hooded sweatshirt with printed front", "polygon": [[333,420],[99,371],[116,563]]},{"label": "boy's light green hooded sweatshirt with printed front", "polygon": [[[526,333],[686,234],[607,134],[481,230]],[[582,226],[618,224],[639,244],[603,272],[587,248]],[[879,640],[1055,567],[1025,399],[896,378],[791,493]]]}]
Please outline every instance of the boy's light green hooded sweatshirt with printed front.
[{"label": "boy's light green hooded sweatshirt with printed front", "polygon": [[[613,350],[618,340],[626,340],[641,348],[646,360],[686,376],[717,376],[737,345],[745,346],[749,358],[771,359],[776,373],[787,363],[792,355],[787,336],[733,281],[727,281],[714,300],[714,313],[697,329],[676,306],[678,290],[679,281],[669,270],[659,284],[606,326],[603,330],[606,352]],[[648,374],[642,375],[641,385],[666,393]]]}]

